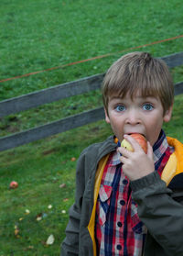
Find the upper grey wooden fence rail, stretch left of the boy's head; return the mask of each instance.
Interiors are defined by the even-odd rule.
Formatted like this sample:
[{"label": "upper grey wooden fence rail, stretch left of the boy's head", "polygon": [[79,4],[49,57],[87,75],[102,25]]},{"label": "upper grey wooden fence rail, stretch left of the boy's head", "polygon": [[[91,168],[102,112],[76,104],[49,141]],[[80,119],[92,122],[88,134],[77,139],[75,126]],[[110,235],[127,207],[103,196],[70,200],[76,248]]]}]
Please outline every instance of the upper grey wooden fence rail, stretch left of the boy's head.
[{"label": "upper grey wooden fence rail, stretch left of the boy's head", "polygon": [[104,73],[96,74],[81,80],[59,84],[31,94],[7,99],[0,102],[0,117],[99,89],[103,76]]}]

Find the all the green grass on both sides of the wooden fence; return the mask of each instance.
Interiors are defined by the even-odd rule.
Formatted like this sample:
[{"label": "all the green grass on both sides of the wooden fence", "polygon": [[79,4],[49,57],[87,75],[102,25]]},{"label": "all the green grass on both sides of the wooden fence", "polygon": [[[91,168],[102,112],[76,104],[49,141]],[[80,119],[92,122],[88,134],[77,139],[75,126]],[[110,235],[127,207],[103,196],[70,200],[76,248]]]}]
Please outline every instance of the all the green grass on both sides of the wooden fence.
[{"label": "all the green grass on both sides of the wooden fence", "polygon": [[[118,51],[178,36],[183,28],[180,0],[2,0],[0,5],[0,80],[114,53],[0,83],[0,100],[105,72],[121,56]],[[139,50],[165,56],[181,51],[182,39]],[[171,72],[175,82],[182,81],[182,67]],[[2,118],[0,136],[101,105],[101,94],[96,91],[40,106]],[[164,128],[167,135],[183,142],[182,109],[183,96],[178,95],[172,122]],[[74,201],[76,161],[81,150],[110,134],[109,126],[101,121],[0,153],[0,255],[59,255]],[[8,188],[12,180],[19,184],[16,190]],[[48,246],[50,234],[55,241]]]}]

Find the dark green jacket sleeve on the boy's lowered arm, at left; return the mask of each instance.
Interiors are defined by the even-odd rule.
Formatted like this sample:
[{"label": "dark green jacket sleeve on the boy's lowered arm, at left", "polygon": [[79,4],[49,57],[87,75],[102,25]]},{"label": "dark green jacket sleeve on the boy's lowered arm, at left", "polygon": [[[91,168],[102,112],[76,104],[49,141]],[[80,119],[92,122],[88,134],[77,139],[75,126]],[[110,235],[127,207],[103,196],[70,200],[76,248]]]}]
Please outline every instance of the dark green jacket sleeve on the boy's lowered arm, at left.
[{"label": "dark green jacket sleeve on the boy's lowered arm, at left", "polygon": [[81,220],[81,202],[84,193],[84,154],[77,163],[76,170],[76,191],[75,203],[70,207],[69,223],[65,230],[66,238],[61,244],[61,256],[78,256],[79,255],[79,233],[80,233],[80,220]]}]

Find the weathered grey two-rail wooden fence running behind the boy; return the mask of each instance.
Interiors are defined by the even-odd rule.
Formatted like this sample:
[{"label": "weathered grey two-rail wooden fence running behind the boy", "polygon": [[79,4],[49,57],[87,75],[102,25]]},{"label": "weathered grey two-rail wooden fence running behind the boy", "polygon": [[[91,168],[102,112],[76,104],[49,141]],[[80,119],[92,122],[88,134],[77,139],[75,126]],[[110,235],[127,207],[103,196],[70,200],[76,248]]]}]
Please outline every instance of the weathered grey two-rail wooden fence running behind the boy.
[{"label": "weathered grey two-rail wooden fence running behind the boy", "polygon": [[[161,58],[166,61],[169,68],[183,65],[183,52],[178,52]],[[0,117],[15,114],[27,109],[48,104],[73,95],[97,90],[101,87],[104,73],[92,75],[78,81],[63,83],[48,89],[40,90],[31,94],[21,95],[0,102]],[[175,84],[175,95],[183,94],[183,82]],[[31,128],[16,134],[0,138],[0,151],[15,148],[38,139],[78,128],[83,125],[101,120],[104,117],[103,108],[94,108],[80,114],[59,119],[46,125]]]}]

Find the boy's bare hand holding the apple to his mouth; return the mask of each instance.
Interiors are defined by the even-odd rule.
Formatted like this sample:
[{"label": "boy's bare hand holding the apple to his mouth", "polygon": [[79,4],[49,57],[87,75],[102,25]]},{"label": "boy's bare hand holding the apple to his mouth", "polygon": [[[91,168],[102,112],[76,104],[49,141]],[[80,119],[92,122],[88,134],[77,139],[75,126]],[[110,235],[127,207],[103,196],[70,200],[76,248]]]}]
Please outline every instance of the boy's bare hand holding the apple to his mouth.
[{"label": "boy's bare hand holding the apple to his mouth", "polygon": [[150,143],[147,141],[147,153],[141,148],[138,142],[131,136],[125,135],[126,140],[130,142],[134,151],[118,148],[118,151],[122,154],[120,160],[123,164],[123,172],[129,178],[130,181],[140,179],[155,171],[155,164],[153,160],[153,149]]}]

